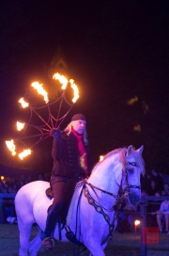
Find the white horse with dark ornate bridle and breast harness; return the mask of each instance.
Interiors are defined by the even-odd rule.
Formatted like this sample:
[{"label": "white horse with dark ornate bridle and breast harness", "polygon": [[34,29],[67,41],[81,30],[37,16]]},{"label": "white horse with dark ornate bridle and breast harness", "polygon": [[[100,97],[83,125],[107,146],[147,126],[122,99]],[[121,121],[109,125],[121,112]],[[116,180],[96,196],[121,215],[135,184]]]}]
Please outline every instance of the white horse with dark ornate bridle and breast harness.
[{"label": "white horse with dark ornate bridle and breast harness", "polygon": [[[90,255],[105,256],[103,249],[109,236],[115,231],[113,206],[119,198],[128,198],[132,204],[140,200],[140,175],[145,172],[142,152],[143,146],[136,151],[130,146],[128,149],[109,152],[96,165],[88,180],[84,181],[84,185],[76,188],[77,197],[73,200],[73,206],[71,204],[72,215],[69,220],[67,218],[67,225],[78,241],[88,248]],[[25,184],[16,195],[20,256],[27,256],[28,252],[29,255],[36,256],[41,247],[40,232],[45,229],[47,210],[53,202],[45,193],[49,186],[49,183],[42,181]],[[123,191],[122,194],[118,193],[119,190]],[[35,222],[38,224],[39,232],[29,242],[32,225]],[[56,225],[54,238],[57,240],[58,230]],[[61,234],[62,241],[69,242],[65,229]]]}]

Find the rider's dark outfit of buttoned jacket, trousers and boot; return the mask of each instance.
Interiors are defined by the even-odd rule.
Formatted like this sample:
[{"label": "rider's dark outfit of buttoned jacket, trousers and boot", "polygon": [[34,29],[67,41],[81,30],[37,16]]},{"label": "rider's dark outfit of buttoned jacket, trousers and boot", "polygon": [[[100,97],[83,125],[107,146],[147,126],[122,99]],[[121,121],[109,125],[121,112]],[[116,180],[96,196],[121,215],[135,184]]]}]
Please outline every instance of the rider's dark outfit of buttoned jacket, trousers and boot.
[{"label": "rider's dark outfit of buttoned jacket, trousers and boot", "polygon": [[[54,135],[52,155],[54,158],[54,168],[51,176],[51,187],[54,194],[54,202],[48,210],[45,231],[41,235],[52,237],[58,216],[65,222],[68,213],[69,202],[72,198],[75,185],[80,181],[79,177],[86,178],[93,168],[93,160],[89,152],[88,145],[84,144],[84,136],[80,137],[83,143],[87,173],[81,164],[81,154],[79,151],[79,135],[72,131],[57,131]],[[46,247],[45,247],[46,248]]]}]

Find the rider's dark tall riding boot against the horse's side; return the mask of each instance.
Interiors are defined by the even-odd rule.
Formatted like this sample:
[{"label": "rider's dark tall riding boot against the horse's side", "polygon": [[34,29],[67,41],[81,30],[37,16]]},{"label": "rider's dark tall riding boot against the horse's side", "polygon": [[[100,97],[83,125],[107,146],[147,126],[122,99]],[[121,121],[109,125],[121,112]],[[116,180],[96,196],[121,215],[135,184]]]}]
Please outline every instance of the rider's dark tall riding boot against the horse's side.
[{"label": "rider's dark tall riding boot against the horse's side", "polygon": [[42,240],[42,247],[47,249],[54,248],[54,239],[53,233],[55,229],[55,225],[57,223],[57,214],[53,210],[49,210],[47,220],[46,220],[46,228],[44,232],[41,232],[41,240]]}]

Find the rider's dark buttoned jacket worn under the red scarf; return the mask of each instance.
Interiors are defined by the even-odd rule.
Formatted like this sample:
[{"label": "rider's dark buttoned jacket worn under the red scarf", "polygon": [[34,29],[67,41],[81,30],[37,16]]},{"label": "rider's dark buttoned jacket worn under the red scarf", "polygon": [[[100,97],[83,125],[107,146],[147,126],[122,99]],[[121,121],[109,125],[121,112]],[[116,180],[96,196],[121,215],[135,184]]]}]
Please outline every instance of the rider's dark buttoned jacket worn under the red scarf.
[{"label": "rider's dark buttoned jacket worn under the red scarf", "polygon": [[[88,176],[93,168],[93,160],[87,145],[84,145],[87,157]],[[62,132],[61,138],[54,138],[52,155],[54,168],[52,175],[59,175],[72,178],[76,174],[84,176],[84,169],[80,166],[80,155],[76,137],[70,133]]]}]

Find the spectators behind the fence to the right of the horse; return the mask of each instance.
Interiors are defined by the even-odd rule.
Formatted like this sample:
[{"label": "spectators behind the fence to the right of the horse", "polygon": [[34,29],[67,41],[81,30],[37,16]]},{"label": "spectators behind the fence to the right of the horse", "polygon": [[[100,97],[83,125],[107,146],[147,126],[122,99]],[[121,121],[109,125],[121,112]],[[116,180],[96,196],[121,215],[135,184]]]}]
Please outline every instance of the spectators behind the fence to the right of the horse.
[{"label": "spectators behind the fence to the right of the horse", "polygon": [[[169,176],[152,169],[141,177],[142,196],[155,196],[157,200],[148,201],[146,206],[146,226],[159,227],[160,232],[169,234],[169,200],[158,200],[160,196],[169,196]],[[119,232],[133,232],[134,220],[139,219],[140,208],[130,203],[124,204],[119,210]]]}]

